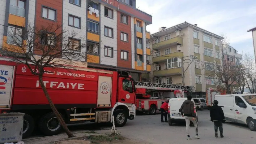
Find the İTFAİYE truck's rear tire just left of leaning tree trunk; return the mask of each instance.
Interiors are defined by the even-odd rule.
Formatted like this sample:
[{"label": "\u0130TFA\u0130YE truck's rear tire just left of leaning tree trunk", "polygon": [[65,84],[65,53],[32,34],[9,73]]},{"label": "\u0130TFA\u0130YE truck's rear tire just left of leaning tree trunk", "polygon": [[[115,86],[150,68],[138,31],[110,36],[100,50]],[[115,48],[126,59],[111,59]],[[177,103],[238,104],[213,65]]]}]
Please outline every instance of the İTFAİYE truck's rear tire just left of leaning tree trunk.
[{"label": "\u0130TFA\u0130YE truck's rear tire just left of leaning tree trunk", "polygon": [[43,115],[39,120],[38,128],[46,136],[57,135],[62,130],[54,112]]}]

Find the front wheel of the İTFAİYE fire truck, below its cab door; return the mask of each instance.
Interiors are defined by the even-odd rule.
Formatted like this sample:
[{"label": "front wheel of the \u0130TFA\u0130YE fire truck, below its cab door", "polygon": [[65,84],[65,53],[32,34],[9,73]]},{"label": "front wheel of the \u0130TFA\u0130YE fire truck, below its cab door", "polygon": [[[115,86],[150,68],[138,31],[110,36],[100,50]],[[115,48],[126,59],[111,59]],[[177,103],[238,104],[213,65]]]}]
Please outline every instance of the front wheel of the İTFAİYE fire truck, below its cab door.
[{"label": "front wheel of the \u0130TFA\u0130YE fire truck, below its cab door", "polygon": [[127,122],[127,114],[123,109],[117,109],[114,112],[115,126],[122,127]]}]

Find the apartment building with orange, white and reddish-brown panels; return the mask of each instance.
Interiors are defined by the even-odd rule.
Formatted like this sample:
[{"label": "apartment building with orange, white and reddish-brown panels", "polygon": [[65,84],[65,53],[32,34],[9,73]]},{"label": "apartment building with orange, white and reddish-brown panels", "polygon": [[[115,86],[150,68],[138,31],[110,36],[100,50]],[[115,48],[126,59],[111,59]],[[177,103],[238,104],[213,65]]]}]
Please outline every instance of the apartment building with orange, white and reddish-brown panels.
[{"label": "apartment building with orange, white and reddish-brown panels", "polygon": [[87,53],[82,61],[88,67],[125,70],[136,80],[151,70],[146,62],[150,55],[146,26],[152,24],[152,16],[137,9],[136,0],[0,0],[0,15],[4,47],[12,44],[8,29],[22,31],[28,23],[35,27],[62,24],[56,34],[78,31],[69,39],[87,44],[81,52]]}]

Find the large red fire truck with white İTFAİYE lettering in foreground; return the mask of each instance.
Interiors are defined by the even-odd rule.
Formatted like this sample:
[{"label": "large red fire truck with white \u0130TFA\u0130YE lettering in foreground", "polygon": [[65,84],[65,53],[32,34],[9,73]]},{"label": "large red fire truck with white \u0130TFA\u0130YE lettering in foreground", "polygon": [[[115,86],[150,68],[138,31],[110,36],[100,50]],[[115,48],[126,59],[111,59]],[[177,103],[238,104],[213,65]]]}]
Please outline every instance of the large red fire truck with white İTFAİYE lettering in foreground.
[{"label": "large red fire truck with white \u0130TFA\u0130YE lettering in foreground", "polygon": [[[59,134],[61,125],[38,77],[26,65],[3,59],[0,57],[0,113],[25,113],[24,137],[36,125],[44,135]],[[135,80],[127,72],[84,67],[45,70],[43,83],[66,123],[112,122],[114,115],[115,125],[121,127],[135,118]]]}]

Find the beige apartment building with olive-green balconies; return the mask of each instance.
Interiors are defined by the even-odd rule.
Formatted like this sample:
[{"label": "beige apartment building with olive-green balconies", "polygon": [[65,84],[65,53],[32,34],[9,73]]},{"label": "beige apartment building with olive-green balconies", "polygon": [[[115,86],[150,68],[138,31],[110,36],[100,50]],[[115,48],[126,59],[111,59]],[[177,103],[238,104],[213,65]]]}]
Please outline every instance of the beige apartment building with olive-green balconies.
[{"label": "beige apartment building with olive-green balconies", "polygon": [[[196,95],[205,95],[207,88],[215,88],[211,76],[214,62],[221,64],[220,40],[223,37],[184,22],[161,27],[151,35],[153,82],[196,87]],[[193,56],[196,59],[191,62]],[[190,60],[189,60],[190,59]],[[183,66],[184,64],[184,66]],[[183,72],[184,71],[184,72]]]}]

